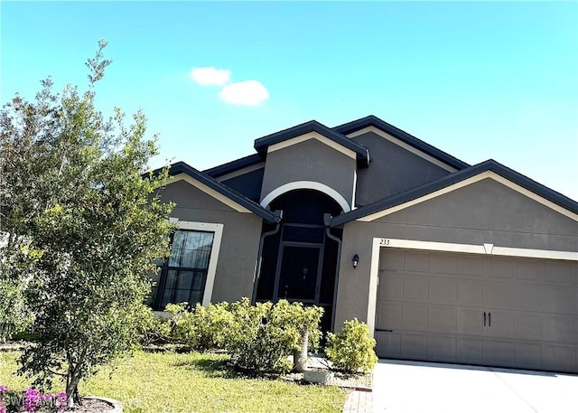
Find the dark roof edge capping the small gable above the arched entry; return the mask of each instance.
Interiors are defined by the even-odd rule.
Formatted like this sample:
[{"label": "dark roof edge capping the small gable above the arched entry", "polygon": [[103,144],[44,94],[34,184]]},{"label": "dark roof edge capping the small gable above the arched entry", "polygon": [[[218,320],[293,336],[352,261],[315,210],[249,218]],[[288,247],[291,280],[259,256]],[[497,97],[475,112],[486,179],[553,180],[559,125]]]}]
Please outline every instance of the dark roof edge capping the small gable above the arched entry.
[{"label": "dark roof edge capping the small gable above the arched entry", "polygon": [[322,141],[327,139],[327,141],[324,143],[331,146],[340,146],[339,149],[338,147],[333,147],[335,149],[341,150],[344,153],[353,153],[359,166],[368,166],[369,150],[367,147],[349,139],[346,136],[341,135],[340,133],[322,125],[315,120],[297,125],[296,127],[290,127],[288,129],[275,132],[275,134],[260,137],[255,140],[255,149],[259,154],[265,155],[269,148],[281,147],[284,142],[287,142],[291,139],[299,138],[300,140],[297,142],[302,142],[303,139],[309,139],[311,137],[317,137]]}]

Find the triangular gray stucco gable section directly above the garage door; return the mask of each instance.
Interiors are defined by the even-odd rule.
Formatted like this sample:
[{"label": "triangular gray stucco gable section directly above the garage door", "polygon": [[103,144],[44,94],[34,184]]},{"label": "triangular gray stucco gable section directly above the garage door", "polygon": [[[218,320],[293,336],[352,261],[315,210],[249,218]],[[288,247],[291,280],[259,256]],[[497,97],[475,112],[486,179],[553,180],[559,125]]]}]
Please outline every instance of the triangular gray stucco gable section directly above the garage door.
[{"label": "triangular gray stucco gable section directly above the garage door", "polygon": [[431,238],[424,240],[526,249],[575,251],[578,247],[578,222],[492,179],[373,222],[402,232],[399,235],[405,237],[400,238],[415,234]]}]

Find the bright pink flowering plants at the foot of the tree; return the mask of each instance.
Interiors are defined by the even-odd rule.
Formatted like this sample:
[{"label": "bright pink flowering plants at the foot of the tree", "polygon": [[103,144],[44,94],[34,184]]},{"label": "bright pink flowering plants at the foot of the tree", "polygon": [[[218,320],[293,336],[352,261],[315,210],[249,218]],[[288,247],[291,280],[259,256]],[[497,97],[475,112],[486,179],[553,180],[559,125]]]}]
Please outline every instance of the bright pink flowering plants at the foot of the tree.
[{"label": "bright pink flowering plants at the foot of the tree", "polygon": [[56,413],[66,409],[66,393],[42,393],[28,389],[23,394],[0,384],[0,413]]}]

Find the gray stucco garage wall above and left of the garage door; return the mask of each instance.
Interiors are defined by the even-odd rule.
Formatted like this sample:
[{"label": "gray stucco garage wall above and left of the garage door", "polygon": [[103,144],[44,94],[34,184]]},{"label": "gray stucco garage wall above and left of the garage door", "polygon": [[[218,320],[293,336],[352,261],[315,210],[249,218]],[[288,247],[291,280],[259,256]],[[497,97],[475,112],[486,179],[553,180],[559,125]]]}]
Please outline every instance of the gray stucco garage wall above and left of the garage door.
[{"label": "gray stucco garage wall above and left of the garage door", "polygon": [[336,328],[353,317],[368,321],[374,238],[578,251],[578,222],[489,179],[376,221],[349,222],[343,230]]}]

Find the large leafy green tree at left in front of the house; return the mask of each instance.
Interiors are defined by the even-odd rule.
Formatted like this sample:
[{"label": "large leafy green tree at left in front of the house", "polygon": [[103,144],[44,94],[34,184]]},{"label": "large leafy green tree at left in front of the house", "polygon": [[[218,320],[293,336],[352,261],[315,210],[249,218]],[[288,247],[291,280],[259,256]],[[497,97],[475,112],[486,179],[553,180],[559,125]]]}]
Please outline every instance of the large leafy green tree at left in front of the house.
[{"label": "large leafy green tree at left in front of the house", "polygon": [[38,339],[21,371],[44,384],[61,376],[69,406],[80,380],[134,343],[149,271],[167,253],[172,208],[156,193],[166,170],[143,178],[157,154],[144,115],[126,127],[118,108],[110,118],[95,108],[110,63],[106,42],[98,46],[86,91],[68,85],[55,94],[45,80],[33,102],[16,95],[0,120],[3,262],[18,264],[11,279],[26,285]]}]

